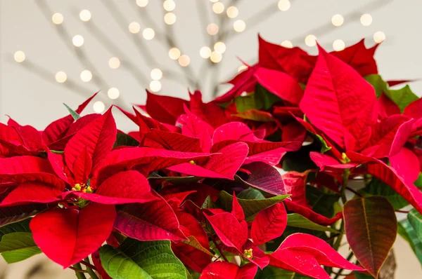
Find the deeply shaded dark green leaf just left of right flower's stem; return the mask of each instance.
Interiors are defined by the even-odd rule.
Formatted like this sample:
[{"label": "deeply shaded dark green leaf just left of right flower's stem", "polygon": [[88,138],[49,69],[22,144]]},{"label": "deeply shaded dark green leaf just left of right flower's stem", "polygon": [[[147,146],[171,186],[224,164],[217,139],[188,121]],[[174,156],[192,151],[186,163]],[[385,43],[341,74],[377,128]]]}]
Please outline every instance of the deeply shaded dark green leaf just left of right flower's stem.
[{"label": "deeply shaded dark green leaf just left of right flower's stem", "polygon": [[331,218],[334,216],[334,204],[337,203],[340,195],[337,193],[323,193],[314,186],[306,186],[306,198],[314,212]]}]

